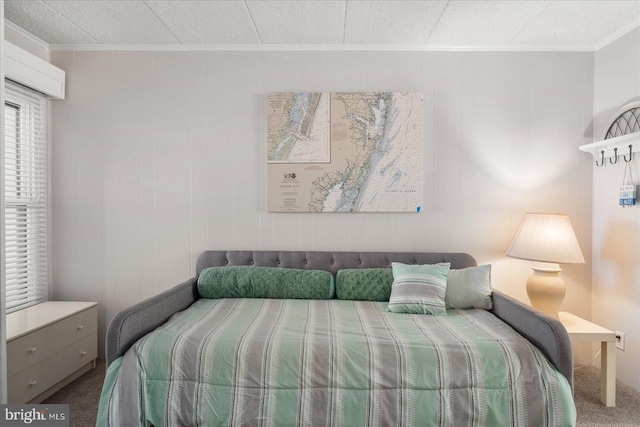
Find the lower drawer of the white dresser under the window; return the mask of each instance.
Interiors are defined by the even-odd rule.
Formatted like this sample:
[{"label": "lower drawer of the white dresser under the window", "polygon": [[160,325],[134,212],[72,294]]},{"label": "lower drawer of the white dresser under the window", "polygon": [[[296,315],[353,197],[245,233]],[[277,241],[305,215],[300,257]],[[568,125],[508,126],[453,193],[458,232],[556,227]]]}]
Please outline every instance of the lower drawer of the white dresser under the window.
[{"label": "lower drawer of the white dresser under the window", "polygon": [[94,360],[97,355],[98,334],[95,333],[9,377],[9,403],[30,401]]}]

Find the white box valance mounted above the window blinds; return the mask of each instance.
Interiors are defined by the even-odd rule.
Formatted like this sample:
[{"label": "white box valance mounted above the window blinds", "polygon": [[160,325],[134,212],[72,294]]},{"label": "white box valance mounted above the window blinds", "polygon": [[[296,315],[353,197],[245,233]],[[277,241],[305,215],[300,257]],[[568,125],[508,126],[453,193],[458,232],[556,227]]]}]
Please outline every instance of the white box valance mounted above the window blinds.
[{"label": "white box valance mounted above the window blinds", "polygon": [[52,99],[64,99],[65,72],[18,46],[5,41],[5,77],[42,92]]}]

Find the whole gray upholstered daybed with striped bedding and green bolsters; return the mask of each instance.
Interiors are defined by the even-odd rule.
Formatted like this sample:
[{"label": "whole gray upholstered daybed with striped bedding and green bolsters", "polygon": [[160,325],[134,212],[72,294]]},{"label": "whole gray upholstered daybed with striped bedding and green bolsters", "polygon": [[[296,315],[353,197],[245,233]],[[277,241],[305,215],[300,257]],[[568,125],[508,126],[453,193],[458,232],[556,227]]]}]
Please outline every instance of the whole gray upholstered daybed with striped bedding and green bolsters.
[{"label": "whole gray upholstered daybed with striped bedding and green bolsters", "polygon": [[487,307],[431,314],[397,291],[415,287],[400,271],[449,289],[481,267],[462,253],[204,252],[196,277],[112,320],[97,425],[575,425],[557,320],[495,290]]}]

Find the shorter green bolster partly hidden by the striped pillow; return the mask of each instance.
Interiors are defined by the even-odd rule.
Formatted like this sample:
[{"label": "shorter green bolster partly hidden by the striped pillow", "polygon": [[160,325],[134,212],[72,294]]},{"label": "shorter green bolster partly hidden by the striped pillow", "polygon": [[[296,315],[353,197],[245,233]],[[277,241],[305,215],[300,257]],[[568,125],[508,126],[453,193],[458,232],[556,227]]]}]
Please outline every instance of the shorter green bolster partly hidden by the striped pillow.
[{"label": "shorter green bolster partly hidden by the striped pillow", "polygon": [[393,270],[390,268],[345,268],[336,274],[338,299],[389,301]]}]

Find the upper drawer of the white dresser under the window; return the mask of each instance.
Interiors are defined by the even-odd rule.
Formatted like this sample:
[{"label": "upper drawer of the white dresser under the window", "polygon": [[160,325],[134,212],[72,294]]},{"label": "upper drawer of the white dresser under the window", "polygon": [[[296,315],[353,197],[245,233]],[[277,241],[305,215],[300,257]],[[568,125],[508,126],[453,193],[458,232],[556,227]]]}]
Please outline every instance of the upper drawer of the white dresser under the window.
[{"label": "upper drawer of the white dresser under the window", "polygon": [[35,365],[69,345],[97,333],[98,308],[91,307],[7,343],[7,376]]}]

